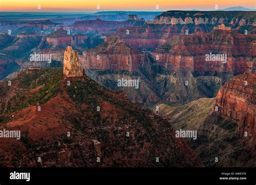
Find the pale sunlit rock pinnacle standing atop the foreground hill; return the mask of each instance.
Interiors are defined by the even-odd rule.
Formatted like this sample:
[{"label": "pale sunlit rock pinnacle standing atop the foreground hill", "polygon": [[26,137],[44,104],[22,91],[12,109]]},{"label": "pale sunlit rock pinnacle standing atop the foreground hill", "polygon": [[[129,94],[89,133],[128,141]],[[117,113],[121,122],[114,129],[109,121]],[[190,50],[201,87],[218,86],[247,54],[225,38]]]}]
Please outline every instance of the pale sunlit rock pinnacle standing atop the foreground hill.
[{"label": "pale sunlit rock pinnacle standing atop the foreground hill", "polygon": [[75,50],[68,46],[64,52],[63,74],[65,77],[83,76],[83,69],[77,57]]}]

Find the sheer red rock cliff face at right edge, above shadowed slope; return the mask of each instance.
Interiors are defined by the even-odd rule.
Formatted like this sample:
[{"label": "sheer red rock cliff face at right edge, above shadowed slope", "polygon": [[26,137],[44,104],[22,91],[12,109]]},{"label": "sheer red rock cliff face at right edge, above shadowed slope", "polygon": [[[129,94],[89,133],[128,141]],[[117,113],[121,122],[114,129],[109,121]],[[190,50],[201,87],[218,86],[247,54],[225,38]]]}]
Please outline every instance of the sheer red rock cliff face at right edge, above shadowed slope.
[{"label": "sheer red rock cliff face at right edge, above shadowed slope", "polygon": [[254,138],[256,133],[256,75],[242,74],[234,77],[221,87],[215,104],[218,113],[237,123],[243,135]]}]

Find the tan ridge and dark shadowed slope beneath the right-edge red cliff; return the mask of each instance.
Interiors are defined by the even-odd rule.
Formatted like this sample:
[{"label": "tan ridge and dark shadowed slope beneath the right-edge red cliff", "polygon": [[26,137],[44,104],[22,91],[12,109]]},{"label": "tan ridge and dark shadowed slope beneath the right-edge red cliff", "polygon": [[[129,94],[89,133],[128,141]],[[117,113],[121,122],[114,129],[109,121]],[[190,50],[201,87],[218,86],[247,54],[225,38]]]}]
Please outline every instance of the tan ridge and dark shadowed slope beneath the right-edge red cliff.
[{"label": "tan ridge and dark shadowed slope beneath the right-edge red cliff", "polygon": [[[171,119],[174,130],[197,131],[197,139],[186,141],[206,167],[254,167],[255,134],[245,137],[230,117],[215,112],[215,99],[200,98],[181,106],[160,104],[159,114]],[[228,103],[229,107],[234,105]]]}]

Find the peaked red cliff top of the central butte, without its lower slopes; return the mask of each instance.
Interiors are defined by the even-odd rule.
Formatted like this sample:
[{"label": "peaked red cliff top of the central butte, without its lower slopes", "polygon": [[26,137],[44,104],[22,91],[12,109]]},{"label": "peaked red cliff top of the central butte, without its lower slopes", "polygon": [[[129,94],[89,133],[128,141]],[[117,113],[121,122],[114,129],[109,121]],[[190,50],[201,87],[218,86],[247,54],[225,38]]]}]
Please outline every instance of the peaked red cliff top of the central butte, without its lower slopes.
[{"label": "peaked red cliff top of the central butte, without its lower slopes", "polygon": [[85,69],[131,72],[144,64],[146,55],[124,44],[119,37],[109,37],[96,48],[84,51],[81,58]]}]

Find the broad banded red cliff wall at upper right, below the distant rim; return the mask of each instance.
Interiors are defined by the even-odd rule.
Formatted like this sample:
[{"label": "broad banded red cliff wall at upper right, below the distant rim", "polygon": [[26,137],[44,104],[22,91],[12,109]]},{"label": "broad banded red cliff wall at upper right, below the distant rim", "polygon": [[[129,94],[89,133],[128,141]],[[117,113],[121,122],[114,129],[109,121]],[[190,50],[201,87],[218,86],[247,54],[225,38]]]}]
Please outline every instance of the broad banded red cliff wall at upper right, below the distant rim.
[{"label": "broad banded red cliff wall at upper right, below the distant rim", "polygon": [[[224,30],[178,35],[167,40],[151,55],[160,65],[174,71],[252,73],[256,56],[255,38],[255,35]],[[206,54],[210,53],[227,54],[227,61],[206,61]]]}]

